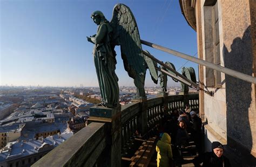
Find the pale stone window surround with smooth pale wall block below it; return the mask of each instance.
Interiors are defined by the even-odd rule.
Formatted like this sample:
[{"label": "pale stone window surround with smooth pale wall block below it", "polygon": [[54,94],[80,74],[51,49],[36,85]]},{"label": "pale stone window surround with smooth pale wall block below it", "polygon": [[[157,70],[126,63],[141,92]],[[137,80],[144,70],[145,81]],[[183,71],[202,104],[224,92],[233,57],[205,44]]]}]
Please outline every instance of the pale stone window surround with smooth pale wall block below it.
[{"label": "pale stone window surround with smooth pale wall block below it", "polygon": [[[212,6],[204,6],[204,0],[200,1],[201,10],[201,33],[202,33],[202,50],[203,59],[213,62],[213,28],[212,28]],[[222,38],[222,18],[221,18],[221,6],[219,4],[219,30],[220,30],[220,48],[223,46]],[[200,45],[199,45],[200,47]],[[220,52],[221,65],[224,66],[223,53]],[[201,73],[202,69],[199,69]],[[208,121],[208,125],[211,126],[216,133],[218,133],[223,141],[226,143],[226,92],[225,92],[225,75],[221,76],[222,84],[221,88],[215,88],[214,86],[214,75],[213,70],[204,67],[204,85],[209,85],[207,87],[208,91],[212,91],[214,96],[204,94],[204,114]],[[209,76],[209,74],[211,76]],[[206,88],[205,88],[206,89]],[[201,102],[201,101],[200,101]],[[209,141],[213,142],[213,141]]]}]

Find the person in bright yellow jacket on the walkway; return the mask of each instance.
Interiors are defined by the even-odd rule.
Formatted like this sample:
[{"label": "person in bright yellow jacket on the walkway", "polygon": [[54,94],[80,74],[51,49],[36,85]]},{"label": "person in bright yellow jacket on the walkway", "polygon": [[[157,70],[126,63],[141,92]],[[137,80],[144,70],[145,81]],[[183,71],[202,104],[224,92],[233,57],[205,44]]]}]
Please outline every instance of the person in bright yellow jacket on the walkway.
[{"label": "person in bright yellow jacket on the walkway", "polygon": [[170,166],[172,162],[171,137],[164,133],[161,139],[157,142],[157,166]]}]

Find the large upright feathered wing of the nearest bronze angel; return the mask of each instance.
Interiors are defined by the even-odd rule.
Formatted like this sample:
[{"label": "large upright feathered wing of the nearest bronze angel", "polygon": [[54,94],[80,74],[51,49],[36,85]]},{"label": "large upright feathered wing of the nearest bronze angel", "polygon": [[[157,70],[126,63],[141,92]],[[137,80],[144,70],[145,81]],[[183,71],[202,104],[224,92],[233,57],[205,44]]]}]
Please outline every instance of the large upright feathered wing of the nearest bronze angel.
[{"label": "large upright feathered wing of the nearest bronze angel", "polygon": [[131,10],[124,4],[113,9],[110,25],[113,27],[113,43],[120,45],[124,68],[133,79],[144,75],[146,62],[142,53],[139,31]]}]

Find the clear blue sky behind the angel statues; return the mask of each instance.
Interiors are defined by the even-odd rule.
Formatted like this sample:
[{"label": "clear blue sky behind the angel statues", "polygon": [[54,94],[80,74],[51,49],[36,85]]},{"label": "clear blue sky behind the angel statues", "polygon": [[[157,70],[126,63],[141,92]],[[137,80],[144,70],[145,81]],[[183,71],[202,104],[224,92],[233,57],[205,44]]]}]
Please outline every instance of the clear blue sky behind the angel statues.
[{"label": "clear blue sky behind the angel statues", "polygon": [[[141,39],[189,55],[197,53],[196,32],[188,26],[177,0],[1,0],[0,85],[98,86],[93,45],[86,40],[86,36],[97,30],[90,15],[100,10],[111,20],[117,3],[129,6]],[[142,47],[162,61],[171,61],[177,69],[187,62],[145,45]],[[133,86],[119,50],[116,47],[119,86]],[[195,68],[198,73],[198,66],[193,62],[185,66]],[[156,86],[148,73],[145,86]],[[168,85],[179,83],[169,78]]]}]

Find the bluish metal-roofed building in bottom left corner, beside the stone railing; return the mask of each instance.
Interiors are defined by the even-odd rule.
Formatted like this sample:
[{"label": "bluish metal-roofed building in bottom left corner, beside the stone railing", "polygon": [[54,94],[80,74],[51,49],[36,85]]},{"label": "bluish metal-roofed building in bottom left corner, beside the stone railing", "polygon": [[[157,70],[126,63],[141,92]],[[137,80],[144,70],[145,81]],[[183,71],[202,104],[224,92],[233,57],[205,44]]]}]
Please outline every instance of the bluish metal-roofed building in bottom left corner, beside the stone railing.
[{"label": "bluish metal-roofed building in bottom left corner, beside the stone railing", "polygon": [[0,154],[0,166],[31,166],[53,148],[68,140],[73,133],[40,137],[38,140],[12,142],[3,148]]}]

